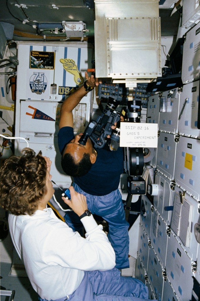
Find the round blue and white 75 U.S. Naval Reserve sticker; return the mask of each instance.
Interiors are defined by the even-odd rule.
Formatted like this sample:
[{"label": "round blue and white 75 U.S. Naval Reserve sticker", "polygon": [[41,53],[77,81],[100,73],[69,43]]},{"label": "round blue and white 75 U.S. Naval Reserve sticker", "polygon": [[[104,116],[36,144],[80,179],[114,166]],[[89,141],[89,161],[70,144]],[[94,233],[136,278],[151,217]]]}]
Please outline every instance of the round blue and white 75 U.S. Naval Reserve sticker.
[{"label": "round blue and white 75 U.S. Naval Reserve sticker", "polygon": [[33,72],[33,75],[30,77],[29,80],[29,85],[32,93],[44,93],[47,87],[47,78],[44,72]]}]

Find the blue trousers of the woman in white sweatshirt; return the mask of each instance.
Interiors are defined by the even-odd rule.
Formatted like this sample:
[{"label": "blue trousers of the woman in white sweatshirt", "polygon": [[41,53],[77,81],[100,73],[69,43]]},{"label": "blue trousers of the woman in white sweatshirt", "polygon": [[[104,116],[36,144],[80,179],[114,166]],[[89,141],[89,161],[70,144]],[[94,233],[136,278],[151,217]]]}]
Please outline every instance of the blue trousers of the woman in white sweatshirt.
[{"label": "blue trousers of the woman in white sweatshirt", "polygon": [[[120,276],[120,271],[113,268],[108,271],[85,272],[81,284],[71,295],[55,301],[144,301],[144,299],[149,300],[145,284],[132,277]],[[39,300],[47,301],[41,298]]]}]

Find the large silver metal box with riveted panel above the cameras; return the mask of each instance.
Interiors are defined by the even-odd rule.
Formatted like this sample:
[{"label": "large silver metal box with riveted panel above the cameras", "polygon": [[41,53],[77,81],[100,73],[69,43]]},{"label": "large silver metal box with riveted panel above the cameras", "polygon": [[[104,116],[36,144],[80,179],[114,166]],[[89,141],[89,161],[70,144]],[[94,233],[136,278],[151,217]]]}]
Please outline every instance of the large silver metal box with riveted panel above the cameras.
[{"label": "large silver metal box with riveted panel above the cameras", "polygon": [[161,76],[158,0],[95,0],[96,76]]}]

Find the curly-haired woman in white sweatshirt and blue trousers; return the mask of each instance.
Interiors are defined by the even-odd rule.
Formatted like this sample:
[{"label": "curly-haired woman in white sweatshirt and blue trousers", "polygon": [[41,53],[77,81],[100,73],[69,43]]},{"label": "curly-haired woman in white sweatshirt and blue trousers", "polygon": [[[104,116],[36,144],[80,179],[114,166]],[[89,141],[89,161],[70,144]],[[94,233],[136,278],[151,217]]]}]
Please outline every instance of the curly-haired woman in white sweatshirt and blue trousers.
[{"label": "curly-haired woman in white sweatshirt and blue trousers", "polygon": [[80,216],[86,238],[47,207],[54,194],[50,166],[41,152],[25,148],[0,168],[0,206],[10,211],[11,238],[39,300],[148,299],[141,281],[122,277],[114,268],[114,250],[88,212],[85,196],[71,186],[71,200],[63,200]]}]

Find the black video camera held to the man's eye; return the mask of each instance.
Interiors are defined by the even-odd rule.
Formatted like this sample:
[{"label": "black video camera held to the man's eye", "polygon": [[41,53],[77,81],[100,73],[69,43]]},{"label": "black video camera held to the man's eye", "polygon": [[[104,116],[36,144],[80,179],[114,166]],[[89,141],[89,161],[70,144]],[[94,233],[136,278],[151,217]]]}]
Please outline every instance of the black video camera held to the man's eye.
[{"label": "black video camera held to the man's eye", "polygon": [[120,102],[109,97],[108,103],[103,113],[97,117],[97,120],[91,120],[86,127],[83,135],[79,139],[79,143],[86,145],[88,137],[94,143],[94,147],[103,148],[107,142],[107,136],[111,135],[113,129],[111,126],[120,120],[120,113],[115,111]]}]

